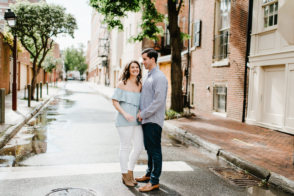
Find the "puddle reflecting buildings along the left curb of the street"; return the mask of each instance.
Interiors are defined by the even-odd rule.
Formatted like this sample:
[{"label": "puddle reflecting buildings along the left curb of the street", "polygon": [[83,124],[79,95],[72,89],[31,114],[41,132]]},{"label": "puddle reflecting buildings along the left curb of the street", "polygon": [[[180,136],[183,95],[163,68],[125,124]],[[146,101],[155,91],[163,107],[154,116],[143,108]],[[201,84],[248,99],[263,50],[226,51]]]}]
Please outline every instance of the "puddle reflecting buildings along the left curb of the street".
[{"label": "puddle reflecting buildings along the left curb of the street", "polygon": [[55,136],[50,134],[48,126],[51,126],[54,122],[64,123],[64,121],[55,118],[57,115],[63,114],[58,110],[59,108],[69,108],[74,103],[74,101],[59,97],[51,100],[0,150],[0,167],[26,166],[22,165],[21,162],[31,156],[61,151],[50,143],[50,140]]}]

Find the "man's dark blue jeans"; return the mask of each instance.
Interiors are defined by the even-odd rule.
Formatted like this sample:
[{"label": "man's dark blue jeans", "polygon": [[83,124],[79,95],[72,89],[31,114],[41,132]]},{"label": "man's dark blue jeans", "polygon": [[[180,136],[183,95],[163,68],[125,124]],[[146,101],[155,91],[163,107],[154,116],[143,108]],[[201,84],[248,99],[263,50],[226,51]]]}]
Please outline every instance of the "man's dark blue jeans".
[{"label": "man's dark blue jeans", "polygon": [[146,176],[150,176],[152,184],[159,183],[162,168],[161,132],[162,128],[156,123],[145,123],[143,127],[144,146],[148,155]]}]

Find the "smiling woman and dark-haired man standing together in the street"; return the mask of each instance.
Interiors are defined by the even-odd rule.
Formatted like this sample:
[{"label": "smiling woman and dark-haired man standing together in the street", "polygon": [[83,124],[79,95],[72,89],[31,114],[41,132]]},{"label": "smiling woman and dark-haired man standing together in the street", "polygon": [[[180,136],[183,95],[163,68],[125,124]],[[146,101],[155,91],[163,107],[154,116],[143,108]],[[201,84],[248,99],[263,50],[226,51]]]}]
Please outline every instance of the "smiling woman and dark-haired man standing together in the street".
[{"label": "smiling woman and dark-haired man standing together in the street", "polygon": [[[166,109],[168,81],[156,66],[158,53],[153,48],[142,51],[142,64],[148,74],[141,83],[142,70],[138,61],[126,64],[119,82],[111,96],[116,110],[116,128],[120,138],[119,162],[122,181],[135,186],[137,181],[149,181],[139,191],[159,188],[162,167],[161,132]],[[128,158],[130,145],[133,150]],[[141,177],[133,177],[133,169],[143,150],[148,155],[148,168]]]}]

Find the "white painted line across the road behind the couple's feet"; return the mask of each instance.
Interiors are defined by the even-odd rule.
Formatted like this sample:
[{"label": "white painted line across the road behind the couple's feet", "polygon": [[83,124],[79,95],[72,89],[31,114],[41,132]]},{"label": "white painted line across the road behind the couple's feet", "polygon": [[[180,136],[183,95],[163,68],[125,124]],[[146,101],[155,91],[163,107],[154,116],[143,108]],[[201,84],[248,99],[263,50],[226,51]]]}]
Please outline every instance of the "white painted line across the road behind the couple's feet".
[{"label": "white painted line across the road behind the couple's feet", "polygon": [[[134,171],[144,172],[146,167],[147,165],[136,165]],[[163,161],[162,171],[193,171],[193,169],[183,161]],[[119,163],[0,167],[0,180],[112,172],[121,172]]]}]

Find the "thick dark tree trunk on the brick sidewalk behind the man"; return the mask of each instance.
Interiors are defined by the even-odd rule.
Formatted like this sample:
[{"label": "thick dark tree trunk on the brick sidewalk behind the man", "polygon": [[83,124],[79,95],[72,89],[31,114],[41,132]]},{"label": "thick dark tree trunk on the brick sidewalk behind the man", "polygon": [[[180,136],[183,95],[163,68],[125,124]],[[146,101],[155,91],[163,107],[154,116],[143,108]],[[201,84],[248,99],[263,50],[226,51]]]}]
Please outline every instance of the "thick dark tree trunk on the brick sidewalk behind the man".
[{"label": "thick dark tree trunk on the brick sidewalk behind the man", "polygon": [[171,109],[183,112],[181,29],[174,0],[168,0],[168,30],[171,35]]}]

